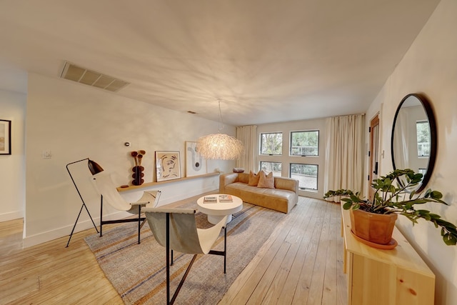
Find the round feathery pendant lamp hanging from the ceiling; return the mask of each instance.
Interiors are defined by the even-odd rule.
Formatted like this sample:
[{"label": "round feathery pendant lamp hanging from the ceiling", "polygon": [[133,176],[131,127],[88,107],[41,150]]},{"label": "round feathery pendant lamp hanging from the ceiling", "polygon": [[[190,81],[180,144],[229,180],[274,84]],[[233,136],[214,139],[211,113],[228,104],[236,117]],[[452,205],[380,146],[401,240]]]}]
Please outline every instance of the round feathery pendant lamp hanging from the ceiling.
[{"label": "round feathery pendant lamp hanging from the ceiling", "polygon": [[[224,128],[222,123],[221,101],[219,100],[219,119],[221,121],[221,129]],[[197,140],[196,151],[205,159],[213,160],[235,160],[238,159],[244,152],[243,143],[240,140],[221,134],[218,130],[217,134],[209,134],[201,136]]]}]

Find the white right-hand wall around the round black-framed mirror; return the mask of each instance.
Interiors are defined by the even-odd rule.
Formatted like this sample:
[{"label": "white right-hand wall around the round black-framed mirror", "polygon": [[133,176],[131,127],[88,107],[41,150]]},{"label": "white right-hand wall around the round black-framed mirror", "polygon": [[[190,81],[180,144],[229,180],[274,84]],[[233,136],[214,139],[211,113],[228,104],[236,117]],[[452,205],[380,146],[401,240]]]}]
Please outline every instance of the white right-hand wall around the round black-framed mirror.
[{"label": "white right-hand wall around the round black-framed mirror", "polygon": [[[453,224],[457,224],[456,16],[457,1],[442,0],[367,111],[367,118],[381,111],[384,154],[380,169],[381,174],[386,174],[392,169],[391,131],[398,104],[409,93],[421,92],[428,96],[438,128],[436,166],[428,187],[442,191],[451,205],[427,204],[426,209]],[[397,224],[436,274],[436,304],[457,304],[457,246],[446,246],[440,231],[426,221],[412,226],[410,221],[400,217]]]}]

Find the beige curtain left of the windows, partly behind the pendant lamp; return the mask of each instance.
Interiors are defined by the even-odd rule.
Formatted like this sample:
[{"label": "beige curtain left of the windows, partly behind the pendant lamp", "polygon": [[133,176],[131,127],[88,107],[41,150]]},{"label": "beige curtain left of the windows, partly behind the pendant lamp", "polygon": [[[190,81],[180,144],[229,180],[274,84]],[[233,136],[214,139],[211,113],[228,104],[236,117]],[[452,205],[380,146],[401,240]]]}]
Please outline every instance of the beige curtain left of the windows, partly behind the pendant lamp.
[{"label": "beige curtain left of the windows, partly behind the pendant lamp", "polygon": [[247,172],[256,171],[257,126],[236,127],[236,139],[244,145],[244,154],[236,160],[236,167],[242,167]]}]

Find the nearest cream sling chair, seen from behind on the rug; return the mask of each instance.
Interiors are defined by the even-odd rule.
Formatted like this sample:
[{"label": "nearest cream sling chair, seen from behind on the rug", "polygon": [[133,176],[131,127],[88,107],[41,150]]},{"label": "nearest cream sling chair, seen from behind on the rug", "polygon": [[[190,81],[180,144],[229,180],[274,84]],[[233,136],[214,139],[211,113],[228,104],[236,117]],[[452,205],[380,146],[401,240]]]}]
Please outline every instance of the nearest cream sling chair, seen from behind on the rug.
[{"label": "nearest cream sling chair, seen from behind on the rug", "polygon": [[[156,241],[166,248],[166,304],[174,304],[198,254],[224,256],[224,274],[226,273],[227,216],[209,229],[198,229],[194,209],[145,208],[143,211]],[[224,228],[224,251],[211,250],[222,228]],[[173,265],[173,251],[194,254],[194,257],[170,300],[170,256],[171,265]]]}]

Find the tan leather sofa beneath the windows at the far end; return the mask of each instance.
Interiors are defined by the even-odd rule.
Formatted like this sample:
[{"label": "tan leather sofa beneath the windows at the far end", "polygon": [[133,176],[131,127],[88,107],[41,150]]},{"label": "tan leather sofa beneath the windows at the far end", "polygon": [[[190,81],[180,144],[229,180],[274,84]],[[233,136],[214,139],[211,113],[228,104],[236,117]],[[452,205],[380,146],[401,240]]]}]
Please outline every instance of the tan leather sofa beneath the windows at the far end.
[{"label": "tan leather sofa beneath the windows at the far end", "polygon": [[249,174],[229,173],[219,177],[219,193],[240,197],[243,201],[288,213],[298,201],[298,181],[274,177],[274,189],[248,186]]}]

